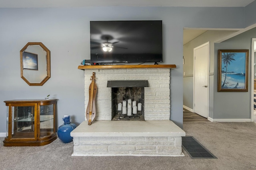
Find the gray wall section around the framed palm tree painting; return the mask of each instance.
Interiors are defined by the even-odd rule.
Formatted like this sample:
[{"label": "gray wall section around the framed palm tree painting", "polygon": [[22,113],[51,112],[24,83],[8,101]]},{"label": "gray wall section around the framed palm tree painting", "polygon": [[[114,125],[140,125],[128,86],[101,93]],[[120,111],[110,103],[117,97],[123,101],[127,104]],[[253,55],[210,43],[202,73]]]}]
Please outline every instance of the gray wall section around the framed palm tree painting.
[{"label": "gray wall section around the framed palm tree painting", "polygon": [[214,119],[250,119],[251,93],[251,42],[256,28],[246,31],[222,43],[215,43],[214,72],[218,72],[218,49],[249,49],[248,92],[217,92],[218,74],[214,74]]}]

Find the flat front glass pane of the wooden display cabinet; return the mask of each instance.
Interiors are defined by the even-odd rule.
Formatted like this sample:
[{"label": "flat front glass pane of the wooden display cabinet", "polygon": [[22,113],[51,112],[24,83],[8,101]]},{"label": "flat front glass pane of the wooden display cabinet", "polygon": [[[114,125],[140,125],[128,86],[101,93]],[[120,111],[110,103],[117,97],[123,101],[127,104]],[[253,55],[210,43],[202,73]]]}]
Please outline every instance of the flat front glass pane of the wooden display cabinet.
[{"label": "flat front glass pane of the wooden display cabinet", "polygon": [[[36,140],[36,123],[34,119],[36,106],[11,106],[12,139],[31,138]],[[9,117],[10,119],[10,117]]]}]

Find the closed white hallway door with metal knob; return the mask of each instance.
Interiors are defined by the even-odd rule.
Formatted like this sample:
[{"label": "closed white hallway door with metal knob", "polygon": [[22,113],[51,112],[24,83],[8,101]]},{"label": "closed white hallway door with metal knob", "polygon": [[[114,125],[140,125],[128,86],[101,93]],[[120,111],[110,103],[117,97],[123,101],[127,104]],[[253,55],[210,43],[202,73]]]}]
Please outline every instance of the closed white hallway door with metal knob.
[{"label": "closed white hallway door with metal knob", "polygon": [[194,112],[208,117],[209,42],[194,48]]}]

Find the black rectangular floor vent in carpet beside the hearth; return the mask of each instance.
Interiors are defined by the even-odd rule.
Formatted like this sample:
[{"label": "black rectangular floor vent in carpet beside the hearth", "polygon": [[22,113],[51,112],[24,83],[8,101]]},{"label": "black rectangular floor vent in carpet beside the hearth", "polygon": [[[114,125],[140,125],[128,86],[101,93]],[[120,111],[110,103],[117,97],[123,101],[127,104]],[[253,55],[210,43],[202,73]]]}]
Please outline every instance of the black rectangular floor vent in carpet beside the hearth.
[{"label": "black rectangular floor vent in carpet beside the hearth", "polygon": [[209,152],[209,150],[207,150],[192,136],[182,137],[182,148],[185,149],[193,159],[217,159],[216,156]]}]

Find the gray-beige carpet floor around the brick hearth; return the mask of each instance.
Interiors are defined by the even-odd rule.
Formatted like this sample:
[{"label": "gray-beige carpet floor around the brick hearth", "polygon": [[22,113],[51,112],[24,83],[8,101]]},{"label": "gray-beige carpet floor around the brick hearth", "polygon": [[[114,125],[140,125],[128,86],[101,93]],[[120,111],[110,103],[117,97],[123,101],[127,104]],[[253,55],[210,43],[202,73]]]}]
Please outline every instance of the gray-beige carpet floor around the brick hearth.
[{"label": "gray-beige carpet floor around the brick hearth", "polygon": [[[59,139],[42,147],[4,147],[0,170],[256,170],[256,123],[184,123],[218,159],[185,156],[71,156],[73,143]],[[3,137],[0,138],[4,140]]]}]

